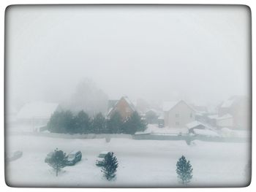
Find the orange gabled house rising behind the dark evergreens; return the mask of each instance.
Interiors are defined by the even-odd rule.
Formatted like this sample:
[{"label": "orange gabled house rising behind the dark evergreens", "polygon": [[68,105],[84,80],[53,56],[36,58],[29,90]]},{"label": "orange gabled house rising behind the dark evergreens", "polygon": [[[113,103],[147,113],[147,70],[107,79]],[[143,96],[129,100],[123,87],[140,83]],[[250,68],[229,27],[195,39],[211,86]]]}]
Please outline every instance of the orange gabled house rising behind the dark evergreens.
[{"label": "orange gabled house rising behind the dark evergreens", "polygon": [[119,112],[124,120],[129,118],[132,112],[135,112],[135,105],[132,104],[132,101],[130,101],[127,96],[122,96],[121,99],[113,104],[113,107],[110,107],[107,118],[110,118],[115,112]]}]

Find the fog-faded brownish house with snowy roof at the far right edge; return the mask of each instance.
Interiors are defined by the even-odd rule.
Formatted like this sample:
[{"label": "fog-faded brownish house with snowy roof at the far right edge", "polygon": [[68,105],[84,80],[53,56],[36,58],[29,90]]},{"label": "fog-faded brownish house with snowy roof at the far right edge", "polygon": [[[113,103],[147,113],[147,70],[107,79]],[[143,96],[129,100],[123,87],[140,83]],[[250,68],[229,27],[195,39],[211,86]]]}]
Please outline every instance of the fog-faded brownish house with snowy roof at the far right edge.
[{"label": "fog-faded brownish house with snowy roof at the far right edge", "polygon": [[[251,121],[250,101],[245,96],[232,96],[230,99],[223,101],[218,108],[219,117],[224,117],[226,121],[231,121],[233,125],[226,126],[230,128],[246,129],[250,127]],[[224,116],[226,115],[226,116]],[[222,124],[222,122],[221,122]]]}]

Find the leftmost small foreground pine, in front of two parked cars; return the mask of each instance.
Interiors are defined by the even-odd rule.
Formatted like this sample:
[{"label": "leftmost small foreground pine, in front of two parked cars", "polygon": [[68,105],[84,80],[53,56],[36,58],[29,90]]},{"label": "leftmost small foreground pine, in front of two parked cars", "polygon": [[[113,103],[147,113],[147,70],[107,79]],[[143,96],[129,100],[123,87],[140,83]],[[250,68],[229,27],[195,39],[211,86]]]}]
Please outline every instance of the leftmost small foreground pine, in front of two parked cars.
[{"label": "leftmost small foreground pine, in front of two parked cars", "polygon": [[53,167],[53,170],[56,171],[56,177],[58,177],[58,172],[66,166],[67,163],[67,155],[62,150],[54,150],[53,155],[47,162],[49,166]]}]

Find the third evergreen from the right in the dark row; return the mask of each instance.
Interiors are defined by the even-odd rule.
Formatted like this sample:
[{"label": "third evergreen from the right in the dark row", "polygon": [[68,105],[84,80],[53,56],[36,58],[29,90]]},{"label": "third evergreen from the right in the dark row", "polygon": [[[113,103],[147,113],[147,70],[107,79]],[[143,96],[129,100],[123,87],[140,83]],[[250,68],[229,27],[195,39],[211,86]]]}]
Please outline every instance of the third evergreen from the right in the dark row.
[{"label": "third evergreen from the right in the dark row", "polygon": [[94,134],[102,134],[107,132],[105,117],[99,112],[92,120],[92,130]]}]

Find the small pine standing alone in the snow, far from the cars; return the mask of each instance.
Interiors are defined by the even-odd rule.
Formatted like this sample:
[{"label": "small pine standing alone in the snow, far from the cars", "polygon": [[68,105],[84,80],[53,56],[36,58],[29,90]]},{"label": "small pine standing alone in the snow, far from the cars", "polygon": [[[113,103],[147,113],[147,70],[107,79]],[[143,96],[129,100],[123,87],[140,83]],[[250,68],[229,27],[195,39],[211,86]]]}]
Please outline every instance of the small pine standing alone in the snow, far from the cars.
[{"label": "small pine standing alone in the snow, far from the cars", "polygon": [[187,184],[193,177],[193,169],[189,161],[184,157],[178,159],[176,164],[176,173],[178,174],[178,180],[181,180],[182,184]]}]

